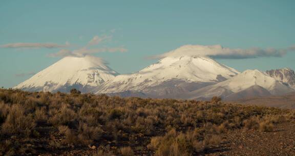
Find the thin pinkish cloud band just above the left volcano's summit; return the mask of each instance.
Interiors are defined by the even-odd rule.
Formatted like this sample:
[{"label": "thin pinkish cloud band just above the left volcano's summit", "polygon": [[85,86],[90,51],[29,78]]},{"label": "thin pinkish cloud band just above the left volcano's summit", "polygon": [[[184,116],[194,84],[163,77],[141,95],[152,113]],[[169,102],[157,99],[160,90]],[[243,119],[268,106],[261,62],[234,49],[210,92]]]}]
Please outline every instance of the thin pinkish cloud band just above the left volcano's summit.
[{"label": "thin pinkish cloud band just above the left volcano's summit", "polygon": [[67,50],[67,49],[61,49],[57,53],[51,53],[48,56],[51,57],[66,57],[66,56],[75,56],[75,57],[83,57],[86,55],[91,55],[94,53],[100,53],[100,52],[126,52],[128,51],[124,47],[113,47],[113,48],[97,48],[97,49],[87,49],[87,48],[81,48],[77,50]]}]

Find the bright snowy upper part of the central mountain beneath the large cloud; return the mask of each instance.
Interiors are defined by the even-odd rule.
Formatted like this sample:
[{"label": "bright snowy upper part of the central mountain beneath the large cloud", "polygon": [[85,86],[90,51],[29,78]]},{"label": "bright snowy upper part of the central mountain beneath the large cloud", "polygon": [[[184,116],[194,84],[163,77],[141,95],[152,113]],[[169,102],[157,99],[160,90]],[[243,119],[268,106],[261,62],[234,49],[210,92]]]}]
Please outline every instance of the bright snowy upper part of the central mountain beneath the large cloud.
[{"label": "bright snowy upper part of the central mountain beneath the large cloud", "polygon": [[147,75],[156,80],[177,78],[186,81],[208,82],[215,81],[217,75],[228,79],[239,72],[233,68],[219,64],[209,57],[184,55],[165,57],[158,63],[150,65],[140,70],[138,73],[150,73]]}]

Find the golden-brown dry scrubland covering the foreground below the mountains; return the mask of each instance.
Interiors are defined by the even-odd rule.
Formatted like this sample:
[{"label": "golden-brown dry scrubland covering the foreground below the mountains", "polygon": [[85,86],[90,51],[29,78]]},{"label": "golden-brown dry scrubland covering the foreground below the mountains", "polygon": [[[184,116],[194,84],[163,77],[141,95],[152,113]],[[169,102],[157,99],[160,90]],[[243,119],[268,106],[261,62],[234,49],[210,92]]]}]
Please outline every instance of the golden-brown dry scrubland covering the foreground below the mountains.
[{"label": "golden-brown dry scrubland covering the foreground below the mountains", "polygon": [[291,110],[212,101],[0,89],[0,155],[198,155],[237,128],[271,132]]}]

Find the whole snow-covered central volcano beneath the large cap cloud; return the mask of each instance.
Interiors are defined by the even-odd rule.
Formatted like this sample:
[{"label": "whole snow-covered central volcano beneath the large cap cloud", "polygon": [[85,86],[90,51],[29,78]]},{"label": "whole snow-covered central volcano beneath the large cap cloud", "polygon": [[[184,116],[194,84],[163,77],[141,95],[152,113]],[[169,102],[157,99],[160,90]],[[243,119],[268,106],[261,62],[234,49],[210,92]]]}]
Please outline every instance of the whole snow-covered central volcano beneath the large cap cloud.
[{"label": "whole snow-covered central volcano beneath the large cap cloud", "polygon": [[[118,75],[97,88],[96,93],[123,92],[168,94],[227,80],[239,73],[206,56],[167,56],[137,73]],[[185,84],[184,84],[185,83]],[[190,83],[187,85],[187,83]],[[189,89],[188,89],[189,90]],[[160,93],[162,94],[162,93]]]}]

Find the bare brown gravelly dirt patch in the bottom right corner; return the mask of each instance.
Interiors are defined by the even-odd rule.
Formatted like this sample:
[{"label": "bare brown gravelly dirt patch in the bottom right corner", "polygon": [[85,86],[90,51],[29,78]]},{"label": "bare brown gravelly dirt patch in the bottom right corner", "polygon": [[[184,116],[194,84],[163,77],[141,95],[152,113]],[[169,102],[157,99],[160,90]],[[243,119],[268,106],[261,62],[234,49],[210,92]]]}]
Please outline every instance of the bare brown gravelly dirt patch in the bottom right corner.
[{"label": "bare brown gravelly dirt patch in the bottom right corner", "polygon": [[275,125],[272,132],[228,132],[221,147],[205,155],[295,155],[295,124]]}]

